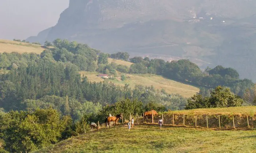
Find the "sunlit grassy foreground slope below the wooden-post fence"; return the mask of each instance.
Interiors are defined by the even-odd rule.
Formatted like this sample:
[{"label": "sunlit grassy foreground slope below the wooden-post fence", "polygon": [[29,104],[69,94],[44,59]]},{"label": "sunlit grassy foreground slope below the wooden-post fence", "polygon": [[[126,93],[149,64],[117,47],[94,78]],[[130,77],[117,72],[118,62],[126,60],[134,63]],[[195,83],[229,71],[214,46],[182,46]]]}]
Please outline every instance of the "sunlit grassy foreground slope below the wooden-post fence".
[{"label": "sunlit grassy foreground slope below the wooden-post fence", "polygon": [[70,138],[40,152],[256,152],[256,130],[119,125]]}]

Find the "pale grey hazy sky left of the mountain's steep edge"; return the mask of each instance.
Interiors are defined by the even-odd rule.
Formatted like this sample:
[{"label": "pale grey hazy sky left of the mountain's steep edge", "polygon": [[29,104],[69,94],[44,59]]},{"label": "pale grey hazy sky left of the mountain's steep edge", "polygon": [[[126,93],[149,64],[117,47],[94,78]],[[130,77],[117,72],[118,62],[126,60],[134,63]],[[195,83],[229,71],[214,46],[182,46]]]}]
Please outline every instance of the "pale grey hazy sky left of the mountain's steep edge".
[{"label": "pale grey hazy sky left of the mountain's steep edge", "polygon": [[0,0],[0,39],[26,39],[54,26],[69,0]]}]

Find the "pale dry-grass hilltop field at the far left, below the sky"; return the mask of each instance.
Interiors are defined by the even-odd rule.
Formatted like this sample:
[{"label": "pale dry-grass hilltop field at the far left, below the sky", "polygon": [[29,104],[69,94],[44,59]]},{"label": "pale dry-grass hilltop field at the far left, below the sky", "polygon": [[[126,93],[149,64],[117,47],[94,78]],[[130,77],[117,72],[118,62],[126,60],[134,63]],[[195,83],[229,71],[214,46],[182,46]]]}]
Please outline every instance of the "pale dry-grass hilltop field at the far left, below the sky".
[{"label": "pale dry-grass hilltop field at the far left, below the sky", "polygon": [[8,53],[10,53],[10,52],[18,52],[18,53],[34,52],[36,54],[41,54],[41,52],[44,50],[45,50],[45,48],[43,48],[42,46],[37,45],[37,44],[29,44],[29,43],[0,39],[0,52],[8,52]]}]

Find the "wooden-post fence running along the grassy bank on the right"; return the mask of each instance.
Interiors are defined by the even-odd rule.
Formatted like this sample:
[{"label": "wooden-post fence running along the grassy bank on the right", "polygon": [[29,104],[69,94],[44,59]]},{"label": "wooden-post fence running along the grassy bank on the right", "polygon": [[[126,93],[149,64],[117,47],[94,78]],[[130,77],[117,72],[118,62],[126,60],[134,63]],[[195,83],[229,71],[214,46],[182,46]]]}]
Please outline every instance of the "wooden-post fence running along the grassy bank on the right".
[{"label": "wooden-post fence running along the grassy bank on the right", "polygon": [[[138,113],[136,113],[136,115],[137,114]],[[205,117],[206,119],[204,119]],[[152,123],[153,124],[155,123],[154,119],[159,120],[160,118],[162,118],[163,120],[163,125],[172,125],[172,126],[183,125],[183,126],[206,127],[206,128],[211,127],[211,128],[219,128],[219,129],[230,129],[230,128],[236,129],[235,120],[237,120],[236,125],[238,129],[245,129],[241,127],[246,127],[249,129],[256,127],[256,118],[249,117],[248,115],[245,118],[245,116],[238,116],[238,115],[231,116],[231,115],[217,115],[217,114],[215,115],[172,114],[172,117],[170,117],[170,115],[164,116],[164,114],[162,114],[154,117],[154,115],[152,114],[151,116]],[[168,118],[171,120],[169,120]],[[137,123],[138,123],[138,120],[140,119],[141,117],[136,117]],[[182,120],[183,120],[183,124],[181,123]],[[147,123],[150,120],[148,120],[147,118],[144,119],[144,114],[143,114],[143,123],[145,123],[145,121]],[[168,121],[171,121],[171,123],[169,122],[168,124]],[[187,124],[186,124],[186,121],[187,121]],[[233,123],[233,127],[231,126],[232,123]]]}]

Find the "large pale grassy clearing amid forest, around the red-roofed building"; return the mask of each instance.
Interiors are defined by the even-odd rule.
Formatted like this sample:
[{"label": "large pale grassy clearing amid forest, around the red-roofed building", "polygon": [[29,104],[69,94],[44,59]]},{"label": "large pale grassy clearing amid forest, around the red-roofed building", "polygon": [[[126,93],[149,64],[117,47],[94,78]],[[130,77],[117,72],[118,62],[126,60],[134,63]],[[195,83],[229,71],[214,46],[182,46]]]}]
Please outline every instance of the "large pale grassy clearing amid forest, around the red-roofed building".
[{"label": "large pale grassy clearing amid forest, around the red-roofed building", "polygon": [[[86,72],[81,71],[81,75],[87,76],[89,81],[101,82],[104,79],[98,77],[97,72]],[[165,79],[159,75],[139,75],[139,74],[126,74],[127,79],[125,81],[121,81],[120,79],[108,79],[108,82],[113,82],[117,85],[124,86],[125,84],[129,84],[130,87],[135,87],[135,85],[143,85],[143,86],[151,86],[153,85],[156,89],[165,89],[165,91],[169,94],[180,94],[184,97],[191,97],[197,92],[199,89],[197,87],[193,87],[190,85],[185,85],[180,82],[176,82],[173,80]]]}]

